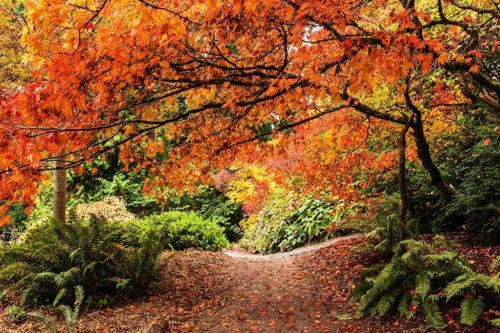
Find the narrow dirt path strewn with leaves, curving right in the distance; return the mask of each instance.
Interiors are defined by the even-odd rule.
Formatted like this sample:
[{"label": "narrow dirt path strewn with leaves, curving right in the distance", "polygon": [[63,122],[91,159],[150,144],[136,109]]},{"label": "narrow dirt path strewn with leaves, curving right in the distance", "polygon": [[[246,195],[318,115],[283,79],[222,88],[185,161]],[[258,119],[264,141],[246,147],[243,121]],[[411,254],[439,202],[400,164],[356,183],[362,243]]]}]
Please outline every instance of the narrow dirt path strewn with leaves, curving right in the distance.
[{"label": "narrow dirt path strewn with leaves, curving right in the distance", "polygon": [[229,260],[221,307],[213,309],[200,332],[335,332],[315,300],[314,279],[304,278],[296,256],[360,234],[335,237],[293,251],[253,255],[235,251]]}]

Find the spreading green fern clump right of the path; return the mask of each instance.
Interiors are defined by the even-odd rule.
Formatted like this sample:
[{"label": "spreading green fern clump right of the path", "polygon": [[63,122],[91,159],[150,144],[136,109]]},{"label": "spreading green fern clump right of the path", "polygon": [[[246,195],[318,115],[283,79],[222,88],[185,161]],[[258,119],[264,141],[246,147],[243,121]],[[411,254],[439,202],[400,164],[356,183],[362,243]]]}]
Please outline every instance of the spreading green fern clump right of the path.
[{"label": "spreading green fern clump right of the path", "polygon": [[[406,249],[402,255],[399,246]],[[497,275],[475,273],[452,250],[453,243],[439,236],[432,243],[405,240],[396,244],[389,263],[373,266],[360,276],[353,292],[358,315],[384,315],[396,307],[400,317],[410,319],[421,310],[431,326],[444,328],[439,302],[461,297],[460,322],[473,325],[484,309],[477,290],[487,289],[498,296],[500,280]]]}]

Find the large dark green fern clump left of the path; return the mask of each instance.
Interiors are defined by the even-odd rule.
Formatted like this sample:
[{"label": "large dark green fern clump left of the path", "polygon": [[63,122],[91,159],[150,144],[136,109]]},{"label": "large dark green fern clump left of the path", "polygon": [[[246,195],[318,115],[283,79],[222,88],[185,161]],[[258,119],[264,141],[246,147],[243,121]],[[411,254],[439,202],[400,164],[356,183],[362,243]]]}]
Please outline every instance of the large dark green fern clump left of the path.
[{"label": "large dark green fern clump left of the path", "polygon": [[164,228],[133,236],[121,228],[95,218],[80,220],[74,211],[67,223],[48,219],[32,226],[21,243],[0,249],[0,284],[22,290],[21,307],[56,306],[76,286],[91,296],[128,279],[140,290],[153,279],[166,246]]}]

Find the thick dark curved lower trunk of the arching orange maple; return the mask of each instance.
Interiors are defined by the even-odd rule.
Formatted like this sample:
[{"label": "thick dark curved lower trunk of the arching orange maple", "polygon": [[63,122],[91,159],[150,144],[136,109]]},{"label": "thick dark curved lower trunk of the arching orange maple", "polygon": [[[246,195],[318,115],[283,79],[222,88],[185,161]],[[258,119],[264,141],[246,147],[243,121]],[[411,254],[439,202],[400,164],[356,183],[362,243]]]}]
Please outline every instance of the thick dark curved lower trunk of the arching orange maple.
[{"label": "thick dark curved lower trunk of the arching orange maple", "polygon": [[439,169],[432,161],[432,157],[430,156],[429,144],[427,143],[427,140],[425,139],[425,133],[423,132],[422,116],[420,112],[413,113],[411,128],[413,129],[413,138],[415,139],[416,153],[420,161],[422,161],[423,167],[430,175],[430,183],[447,197],[459,195],[460,192],[455,190],[451,185],[446,184],[446,182],[442,179]]}]

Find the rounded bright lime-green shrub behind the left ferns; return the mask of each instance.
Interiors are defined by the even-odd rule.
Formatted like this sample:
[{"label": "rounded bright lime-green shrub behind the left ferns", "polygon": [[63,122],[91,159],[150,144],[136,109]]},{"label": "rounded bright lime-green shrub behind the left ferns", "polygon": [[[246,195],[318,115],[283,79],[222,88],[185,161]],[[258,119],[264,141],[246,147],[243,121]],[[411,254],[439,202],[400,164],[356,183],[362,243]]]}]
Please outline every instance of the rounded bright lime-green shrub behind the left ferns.
[{"label": "rounded bright lime-green shrub behind the left ferns", "polygon": [[162,228],[172,250],[196,248],[217,251],[229,245],[223,228],[194,212],[170,211],[144,218],[138,224]]}]

